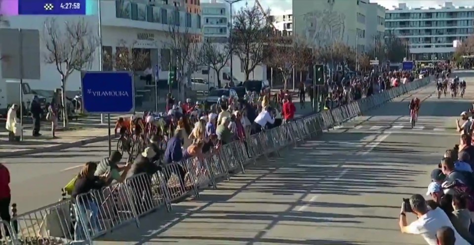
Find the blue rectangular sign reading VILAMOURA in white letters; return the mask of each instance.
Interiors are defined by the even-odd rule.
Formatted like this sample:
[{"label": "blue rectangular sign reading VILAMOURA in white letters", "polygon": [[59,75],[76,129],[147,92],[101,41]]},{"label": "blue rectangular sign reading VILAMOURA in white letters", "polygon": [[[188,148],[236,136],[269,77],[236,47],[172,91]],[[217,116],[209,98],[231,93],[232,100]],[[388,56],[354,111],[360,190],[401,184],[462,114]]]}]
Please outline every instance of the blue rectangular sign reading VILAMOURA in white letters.
[{"label": "blue rectangular sign reading VILAMOURA in white letters", "polygon": [[132,113],[135,107],[130,72],[81,72],[82,105],[89,113]]}]

